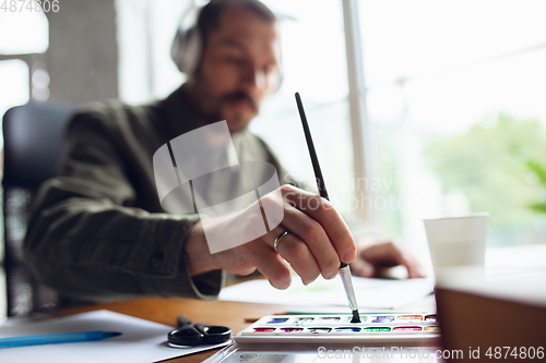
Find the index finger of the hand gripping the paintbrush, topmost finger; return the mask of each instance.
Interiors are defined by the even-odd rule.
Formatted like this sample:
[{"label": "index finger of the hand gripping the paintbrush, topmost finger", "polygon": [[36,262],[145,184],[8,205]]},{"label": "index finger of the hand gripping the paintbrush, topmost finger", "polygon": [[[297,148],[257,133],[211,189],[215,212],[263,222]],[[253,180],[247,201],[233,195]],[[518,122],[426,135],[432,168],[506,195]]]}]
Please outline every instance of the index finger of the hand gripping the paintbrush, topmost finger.
[{"label": "index finger of the hand gripping the paintbrush, topmost finger", "polygon": [[345,221],[329,201],[292,185],[283,185],[281,190],[283,197],[293,207],[304,211],[322,226],[341,262],[351,263],[355,259],[355,241]]}]

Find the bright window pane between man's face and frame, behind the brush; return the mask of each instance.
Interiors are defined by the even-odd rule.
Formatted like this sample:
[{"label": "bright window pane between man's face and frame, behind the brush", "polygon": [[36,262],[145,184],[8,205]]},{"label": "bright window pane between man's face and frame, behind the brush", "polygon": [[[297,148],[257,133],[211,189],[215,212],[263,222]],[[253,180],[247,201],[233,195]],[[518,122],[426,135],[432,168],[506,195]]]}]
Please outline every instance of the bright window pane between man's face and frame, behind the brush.
[{"label": "bright window pane between man's face and frame, behind the brush", "polygon": [[[340,1],[264,1],[281,24],[284,82],[265,100],[250,129],[260,135],[296,179],[316,189],[294,94],[299,92],[332,203],[352,213],[353,146]],[[312,11],[310,11],[312,9]],[[286,17],[286,16],[284,16]]]}]

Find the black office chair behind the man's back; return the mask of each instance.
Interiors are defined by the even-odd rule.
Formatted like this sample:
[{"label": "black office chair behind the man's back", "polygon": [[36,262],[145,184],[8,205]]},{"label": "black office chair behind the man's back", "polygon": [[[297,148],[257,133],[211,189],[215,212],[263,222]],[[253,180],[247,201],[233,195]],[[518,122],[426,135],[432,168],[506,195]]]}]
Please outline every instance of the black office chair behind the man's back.
[{"label": "black office chair behind the man's back", "polygon": [[27,104],[3,116],[3,219],[8,316],[57,307],[57,293],[39,283],[23,261],[29,206],[39,187],[55,177],[64,126],[74,106]]}]

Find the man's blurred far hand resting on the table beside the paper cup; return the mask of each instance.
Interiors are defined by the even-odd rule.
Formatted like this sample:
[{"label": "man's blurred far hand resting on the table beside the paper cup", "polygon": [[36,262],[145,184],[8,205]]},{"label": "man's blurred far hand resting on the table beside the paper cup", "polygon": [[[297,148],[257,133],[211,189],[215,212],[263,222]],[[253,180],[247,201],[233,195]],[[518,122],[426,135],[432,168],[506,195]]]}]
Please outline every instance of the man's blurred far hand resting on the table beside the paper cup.
[{"label": "man's blurred far hand resting on the table beside the paper cup", "polygon": [[356,259],[351,264],[351,271],[354,276],[377,277],[380,268],[399,265],[406,267],[408,278],[425,277],[419,263],[390,241],[375,241],[360,247]]}]

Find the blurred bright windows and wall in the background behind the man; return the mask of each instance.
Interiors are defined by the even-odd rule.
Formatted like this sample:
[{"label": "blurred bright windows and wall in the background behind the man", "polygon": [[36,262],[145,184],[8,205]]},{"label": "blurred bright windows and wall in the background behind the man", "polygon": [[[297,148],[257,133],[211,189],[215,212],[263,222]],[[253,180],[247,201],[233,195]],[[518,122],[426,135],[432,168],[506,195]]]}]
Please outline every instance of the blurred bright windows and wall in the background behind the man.
[{"label": "blurred bright windows and wall in the background behind the man", "polygon": [[[185,81],[170,45],[192,1],[4,1],[0,116],[166,97]],[[313,185],[299,92],[348,219],[426,265],[423,218],[489,211],[490,249],[546,243],[546,2],[263,2],[285,19],[284,83],[251,129],[290,173]]]}]

